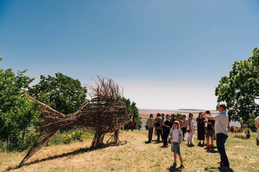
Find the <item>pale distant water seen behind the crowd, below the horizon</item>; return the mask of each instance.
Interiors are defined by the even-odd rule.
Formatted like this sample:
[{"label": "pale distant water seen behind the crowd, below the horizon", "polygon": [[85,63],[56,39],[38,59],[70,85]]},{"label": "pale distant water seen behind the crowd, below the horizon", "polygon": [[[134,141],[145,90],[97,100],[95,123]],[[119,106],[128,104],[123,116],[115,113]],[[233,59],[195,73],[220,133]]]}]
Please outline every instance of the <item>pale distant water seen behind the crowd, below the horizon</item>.
[{"label": "pale distant water seen behind the crowd, below the horizon", "polygon": [[[196,118],[198,117],[198,114],[199,114],[199,111],[191,111],[191,110],[139,109],[139,114],[141,114],[141,115],[149,115],[149,114],[155,115],[158,112],[164,113],[165,115],[169,114],[169,113],[181,113],[182,115],[186,115],[187,118],[188,118],[189,113],[193,113],[193,121],[196,121]],[[213,114],[219,113],[218,111],[212,111],[212,110],[210,112]],[[147,122],[147,118],[142,118],[141,122],[142,122],[141,129],[146,130],[145,125]],[[237,121],[230,121],[229,125],[241,127],[241,124]]]}]

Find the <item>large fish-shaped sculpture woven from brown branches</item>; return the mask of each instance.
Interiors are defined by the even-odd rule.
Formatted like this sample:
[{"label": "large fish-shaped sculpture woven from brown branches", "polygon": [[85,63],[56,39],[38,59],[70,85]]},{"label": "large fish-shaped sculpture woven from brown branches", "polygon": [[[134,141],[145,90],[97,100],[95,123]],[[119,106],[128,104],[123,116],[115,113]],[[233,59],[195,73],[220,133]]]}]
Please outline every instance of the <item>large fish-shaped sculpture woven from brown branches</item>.
[{"label": "large fish-shaped sculpture woven from brown branches", "polygon": [[105,81],[104,78],[98,77],[95,84],[96,86],[86,85],[91,100],[75,113],[68,115],[64,115],[24,93],[24,96],[41,105],[40,110],[44,123],[37,128],[38,138],[18,167],[46,145],[61,129],[82,126],[94,131],[95,136],[91,147],[101,146],[106,133],[114,133],[109,139],[111,142],[119,141],[120,128],[132,121],[133,114],[121,100],[123,93],[113,80]]}]

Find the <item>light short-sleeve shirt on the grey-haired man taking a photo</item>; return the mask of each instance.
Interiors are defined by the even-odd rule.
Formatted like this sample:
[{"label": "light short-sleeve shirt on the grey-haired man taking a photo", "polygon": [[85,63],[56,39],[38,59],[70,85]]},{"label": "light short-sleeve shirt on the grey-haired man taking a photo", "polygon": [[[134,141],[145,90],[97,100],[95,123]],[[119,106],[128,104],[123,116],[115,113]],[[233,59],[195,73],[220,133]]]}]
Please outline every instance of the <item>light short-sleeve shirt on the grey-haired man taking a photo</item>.
[{"label": "light short-sleeve shirt on the grey-haired man taking a photo", "polygon": [[218,115],[212,117],[215,120],[215,134],[223,133],[228,136],[228,115],[226,111],[222,111]]}]

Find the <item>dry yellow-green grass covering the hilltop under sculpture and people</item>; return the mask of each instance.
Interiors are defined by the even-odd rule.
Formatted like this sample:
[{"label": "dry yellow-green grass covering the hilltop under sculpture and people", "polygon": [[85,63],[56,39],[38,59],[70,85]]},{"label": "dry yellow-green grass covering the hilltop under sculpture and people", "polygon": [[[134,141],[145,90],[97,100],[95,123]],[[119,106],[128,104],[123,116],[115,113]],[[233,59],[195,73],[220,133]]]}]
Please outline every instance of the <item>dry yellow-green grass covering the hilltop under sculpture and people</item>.
[{"label": "dry yellow-green grass covering the hilltop under sculpture and people", "polygon": [[[15,167],[23,159],[25,152],[0,153],[0,171],[259,171],[259,146],[256,146],[256,133],[245,140],[244,133],[231,134],[226,142],[226,152],[230,169],[220,167],[217,149],[206,151],[204,147],[187,147],[181,144],[184,169],[170,167],[173,163],[171,144],[163,148],[162,143],[147,143],[148,131],[121,131],[117,145],[106,144],[103,148],[89,148],[92,139],[74,142],[69,145],[43,147],[31,157],[21,168]],[[195,131],[197,135],[197,131]],[[104,140],[108,140],[109,135]],[[153,135],[153,140],[156,136]],[[214,144],[215,145],[215,144]]]}]

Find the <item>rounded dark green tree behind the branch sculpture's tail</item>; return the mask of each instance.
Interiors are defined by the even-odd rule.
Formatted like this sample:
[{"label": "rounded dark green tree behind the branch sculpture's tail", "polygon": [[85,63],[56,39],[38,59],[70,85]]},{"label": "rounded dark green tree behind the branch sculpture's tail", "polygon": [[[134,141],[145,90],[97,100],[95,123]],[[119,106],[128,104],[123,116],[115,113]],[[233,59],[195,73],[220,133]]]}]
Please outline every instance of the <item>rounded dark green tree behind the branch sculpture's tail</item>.
[{"label": "rounded dark green tree behind the branch sculpture's tail", "polygon": [[87,101],[86,87],[82,87],[78,79],[62,73],[56,73],[55,76],[48,75],[46,78],[41,75],[39,84],[29,88],[29,94],[63,114],[74,113]]}]

